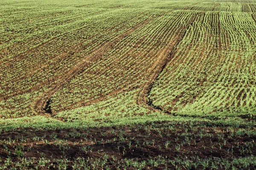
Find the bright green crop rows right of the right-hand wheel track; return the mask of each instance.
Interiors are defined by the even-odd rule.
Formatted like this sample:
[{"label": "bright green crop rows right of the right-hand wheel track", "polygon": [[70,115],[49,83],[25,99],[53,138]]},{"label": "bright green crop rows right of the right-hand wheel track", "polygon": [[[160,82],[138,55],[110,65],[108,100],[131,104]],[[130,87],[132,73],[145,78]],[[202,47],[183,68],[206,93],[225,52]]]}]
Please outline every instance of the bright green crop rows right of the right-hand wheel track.
[{"label": "bright green crop rows right of the right-hand wheel track", "polygon": [[177,115],[256,116],[256,23],[251,13],[197,17],[151,90]]}]

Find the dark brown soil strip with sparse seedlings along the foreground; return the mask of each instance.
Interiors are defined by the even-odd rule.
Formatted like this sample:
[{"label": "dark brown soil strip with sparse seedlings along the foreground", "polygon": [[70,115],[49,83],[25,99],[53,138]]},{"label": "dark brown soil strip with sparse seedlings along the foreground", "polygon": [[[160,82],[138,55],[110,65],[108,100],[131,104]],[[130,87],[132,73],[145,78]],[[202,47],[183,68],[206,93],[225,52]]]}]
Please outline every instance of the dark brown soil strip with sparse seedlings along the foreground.
[{"label": "dark brown soil strip with sparse seedlings along the foreground", "polygon": [[[241,128],[156,122],[122,127],[2,131],[0,163],[5,164],[7,159],[19,162],[26,158],[33,160],[29,165],[32,168],[38,166],[43,158],[49,163],[40,169],[56,169],[56,160],[65,159],[67,168],[73,169],[73,164],[83,158],[91,160],[86,162],[87,166],[96,169],[99,168],[95,165],[97,160],[105,162],[103,169],[105,166],[110,169],[138,169],[127,164],[127,160],[144,161],[142,169],[202,169],[210,167],[209,164],[185,167],[183,163],[207,159],[233,161],[256,156],[256,136],[249,134],[254,128],[244,131]],[[150,164],[156,159],[162,163]],[[237,164],[235,167],[240,166]],[[249,167],[254,169],[255,165],[250,164]]]}]

